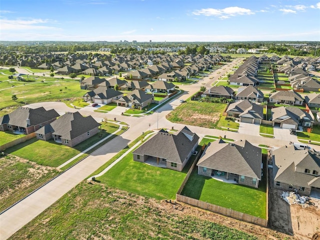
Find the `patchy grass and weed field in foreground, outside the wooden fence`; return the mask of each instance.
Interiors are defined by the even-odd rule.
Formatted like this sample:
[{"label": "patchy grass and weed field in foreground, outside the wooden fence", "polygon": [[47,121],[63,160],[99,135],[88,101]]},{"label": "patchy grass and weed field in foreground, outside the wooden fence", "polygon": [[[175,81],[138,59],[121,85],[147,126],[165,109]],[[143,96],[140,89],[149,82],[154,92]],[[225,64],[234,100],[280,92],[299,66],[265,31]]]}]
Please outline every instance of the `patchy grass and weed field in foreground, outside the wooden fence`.
[{"label": "patchy grass and weed field in foreground, outside the wooden fence", "polygon": [[258,239],[171,207],[106,184],[81,182],[9,239]]}]

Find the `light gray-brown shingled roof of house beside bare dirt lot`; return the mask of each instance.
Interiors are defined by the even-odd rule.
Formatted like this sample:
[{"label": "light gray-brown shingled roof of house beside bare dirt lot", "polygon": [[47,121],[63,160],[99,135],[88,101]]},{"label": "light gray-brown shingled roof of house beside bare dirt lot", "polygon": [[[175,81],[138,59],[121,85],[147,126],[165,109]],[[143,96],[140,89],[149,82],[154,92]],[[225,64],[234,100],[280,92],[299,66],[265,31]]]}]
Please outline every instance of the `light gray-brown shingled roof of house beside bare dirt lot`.
[{"label": "light gray-brown shingled roof of house beside bare dirt lot", "polygon": [[[320,158],[310,150],[297,150],[294,145],[282,146],[273,150],[273,177],[274,181],[287,184],[310,187],[309,182],[317,176],[296,172],[296,167],[308,168],[320,172]],[[317,181],[314,182],[317,184]]]}]

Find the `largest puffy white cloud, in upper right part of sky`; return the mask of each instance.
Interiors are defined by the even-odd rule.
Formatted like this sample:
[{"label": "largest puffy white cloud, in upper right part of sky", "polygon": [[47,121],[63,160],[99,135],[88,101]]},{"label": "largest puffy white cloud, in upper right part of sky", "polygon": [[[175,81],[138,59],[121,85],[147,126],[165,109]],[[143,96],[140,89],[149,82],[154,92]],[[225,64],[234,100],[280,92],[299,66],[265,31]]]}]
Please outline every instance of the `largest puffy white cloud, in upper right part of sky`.
[{"label": "largest puffy white cloud, in upper right part of sky", "polygon": [[236,15],[250,15],[254,14],[250,9],[242,8],[238,6],[225,7],[223,9],[215,8],[202,8],[200,10],[194,10],[192,12],[194,15],[205,15],[205,16],[217,16],[219,18],[229,18],[230,16]]}]

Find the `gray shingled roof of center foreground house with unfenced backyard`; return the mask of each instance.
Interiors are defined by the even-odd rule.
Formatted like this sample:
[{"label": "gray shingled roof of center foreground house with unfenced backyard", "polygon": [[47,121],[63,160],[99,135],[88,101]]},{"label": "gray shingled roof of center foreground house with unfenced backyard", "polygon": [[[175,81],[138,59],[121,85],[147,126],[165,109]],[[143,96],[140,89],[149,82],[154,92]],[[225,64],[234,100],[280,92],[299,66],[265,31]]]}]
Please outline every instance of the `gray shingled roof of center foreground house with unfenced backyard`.
[{"label": "gray shingled roof of center foreground house with unfenced backyard", "polygon": [[[187,136],[191,133],[192,140]],[[165,158],[169,162],[182,164],[198,139],[198,135],[191,132],[186,126],[173,134],[160,130],[132,153]]]}]

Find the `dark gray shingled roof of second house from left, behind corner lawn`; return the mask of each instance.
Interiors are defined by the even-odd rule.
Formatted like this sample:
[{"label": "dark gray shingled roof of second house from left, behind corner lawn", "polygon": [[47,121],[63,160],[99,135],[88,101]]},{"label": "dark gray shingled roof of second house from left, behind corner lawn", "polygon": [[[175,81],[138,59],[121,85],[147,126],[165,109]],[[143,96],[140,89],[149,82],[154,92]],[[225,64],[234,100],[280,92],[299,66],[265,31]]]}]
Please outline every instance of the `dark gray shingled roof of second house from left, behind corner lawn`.
[{"label": "dark gray shingled roof of second house from left, behind corner lawn", "polygon": [[96,122],[92,116],[82,116],[78,111],[66,112],[58,119],[50,123],[50,127],[42,129],[41,127],[36,133],[52,132],[55,135],[61,136],[63,139],[71,140],[91,129],[101,125]]}]

